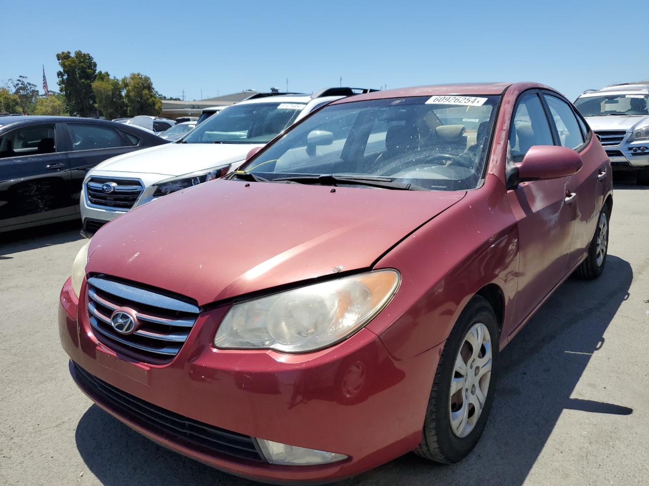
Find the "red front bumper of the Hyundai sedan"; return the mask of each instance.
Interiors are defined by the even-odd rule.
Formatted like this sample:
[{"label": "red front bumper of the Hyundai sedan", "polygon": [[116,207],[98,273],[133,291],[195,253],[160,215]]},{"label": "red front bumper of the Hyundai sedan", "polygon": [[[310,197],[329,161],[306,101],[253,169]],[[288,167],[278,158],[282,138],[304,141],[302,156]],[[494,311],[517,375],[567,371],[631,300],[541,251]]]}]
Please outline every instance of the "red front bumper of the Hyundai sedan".
[{"label": "red front bumper of the Hyundai sedan", "polygon": [[278,483],[328,482],[417,446],[439,347],[395,360],[376,334],[361,329],[343,343],[309,354],[217,350],[210,342],[225,312],[227,307],[201,314],[180,352],[165,365],[126,360],[99,343],[69,280],[60,295],[58,321],[62,345],[80,369],[146,404],[253,440],[349,456],[328,465],[284,466],[205,450],[124,413],[93,393],[71,365],[80,388],[117,419],[231,474]]}]

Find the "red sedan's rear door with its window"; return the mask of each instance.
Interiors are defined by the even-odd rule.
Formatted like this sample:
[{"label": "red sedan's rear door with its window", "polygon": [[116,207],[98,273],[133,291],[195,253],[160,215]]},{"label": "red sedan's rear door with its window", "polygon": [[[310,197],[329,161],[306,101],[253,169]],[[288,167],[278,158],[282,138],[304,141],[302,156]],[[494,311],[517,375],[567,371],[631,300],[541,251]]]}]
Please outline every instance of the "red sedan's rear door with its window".
[{"label": "red sedan's rear door with its window", "polygon": [[589,143],[592,133],[587,132],[583,122],[580,123],[567,100],[550,91],[545,91],[543,98],[559,133],[561,145],[576,150],[582,156],[582,169],[570,176],[570,188],[576,194],[573,204],[577,211],[569,258],[569,267],[572,268],[587,253],[600,207],[604,203],[606,154],[597,144]]}]

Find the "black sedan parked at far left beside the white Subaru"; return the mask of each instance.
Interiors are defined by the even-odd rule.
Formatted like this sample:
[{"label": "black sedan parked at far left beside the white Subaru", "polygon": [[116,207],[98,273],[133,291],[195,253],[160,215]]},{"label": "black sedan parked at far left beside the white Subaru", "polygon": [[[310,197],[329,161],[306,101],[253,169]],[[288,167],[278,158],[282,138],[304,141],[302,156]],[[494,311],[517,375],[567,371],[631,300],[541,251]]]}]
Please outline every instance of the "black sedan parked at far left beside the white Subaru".
[{"label": "black sedan parked at far left beside the white Subaru", "polygon": [[163,143],[137,126],[104,120],[0,116],[0,233],[78,218],[88,170]]}]

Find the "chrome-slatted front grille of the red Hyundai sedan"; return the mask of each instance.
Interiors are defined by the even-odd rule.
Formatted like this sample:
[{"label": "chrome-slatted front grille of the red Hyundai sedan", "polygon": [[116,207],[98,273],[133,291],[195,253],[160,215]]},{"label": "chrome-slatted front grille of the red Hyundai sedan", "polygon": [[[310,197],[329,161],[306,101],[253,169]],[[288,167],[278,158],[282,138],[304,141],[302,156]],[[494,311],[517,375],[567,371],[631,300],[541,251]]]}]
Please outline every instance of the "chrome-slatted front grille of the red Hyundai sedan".
[{"label": "chrome-slatted front grille of the red Hyundai sedan", "polygon": [[[88,319],[97,340],[143,362],[170,361],[187,340],[200,309],[185,300],[110,279],[88,278]],[[117,332],[110,318],[117,309],[134,311],[138,327]]]}]

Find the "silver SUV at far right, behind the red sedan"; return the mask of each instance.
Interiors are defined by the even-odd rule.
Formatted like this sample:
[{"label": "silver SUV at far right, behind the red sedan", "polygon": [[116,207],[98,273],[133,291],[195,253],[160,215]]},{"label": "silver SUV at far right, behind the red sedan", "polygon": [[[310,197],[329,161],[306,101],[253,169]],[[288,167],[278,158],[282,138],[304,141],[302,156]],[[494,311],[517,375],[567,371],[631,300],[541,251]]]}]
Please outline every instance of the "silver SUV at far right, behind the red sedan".
[{"label": "silver SUV at far right, behind the red sedan", "polygon": [[589,89],[574,102],[611,157],[613,170],[649,185],[649,81]]}]

